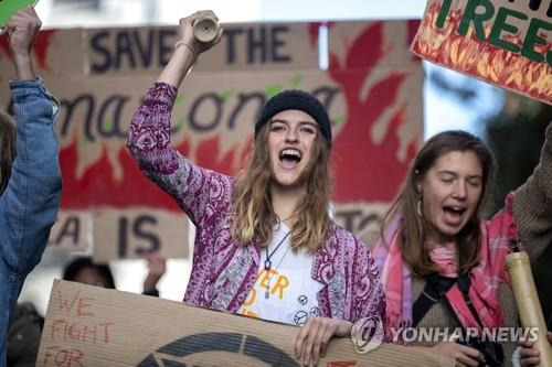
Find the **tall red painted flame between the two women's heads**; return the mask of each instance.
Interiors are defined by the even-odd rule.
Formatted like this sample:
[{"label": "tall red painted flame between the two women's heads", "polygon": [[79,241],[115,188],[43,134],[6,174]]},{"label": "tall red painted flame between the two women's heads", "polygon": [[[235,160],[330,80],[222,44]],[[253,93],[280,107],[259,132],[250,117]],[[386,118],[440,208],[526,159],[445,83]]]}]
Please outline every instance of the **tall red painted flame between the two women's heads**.
[{"label": "tall red painted flame between the two women's heads", "polygon": [[392,117],[381,143],[376,145],[370,137],[372,125],[385,108],[399,102],[397,93],[406,77],[404,72],[391,72],[372,87],[364,100],[360,99],[363,80],[384,56],[382,50],[383,23],[375,22],[353,42],[344,65],[340,65],[337,55],[330,55],[330,76],[341,85],[349,109],[346,128],[336,138],[332,153],[338,203],[393,199],[416,151],[416,139],[413,139],[408,144],[408,159],[400,162],[396,158],[399,128],[408,118],[405,106]]}]

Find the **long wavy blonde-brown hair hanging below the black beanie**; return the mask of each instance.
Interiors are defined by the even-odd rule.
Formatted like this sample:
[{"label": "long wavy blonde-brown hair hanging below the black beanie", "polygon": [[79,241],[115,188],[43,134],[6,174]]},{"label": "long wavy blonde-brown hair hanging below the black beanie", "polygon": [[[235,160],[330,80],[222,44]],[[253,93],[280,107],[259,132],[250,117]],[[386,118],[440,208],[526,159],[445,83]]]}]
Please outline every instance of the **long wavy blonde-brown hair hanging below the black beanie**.
[{"label": "long wavy blonde-brown hair hanging below the black beanie", "polygon": [[[254,241],[261,247],[268,246],[274,226],[279,220],[274,213],[270,195],[273,173],[267,143],[269,126],[269,122],[265,123],[257,134],[246,166],[237,176],[232,237],[240,246]],[[305,248],[314,253],[328,236],[328,205],[332,185],[329,158],[330,149],[321,133],[318,133],[312,144],[310,162],[299,177],[306,183],[307,190],[294,213],[297,218],[290,237],[294,251]]]}]

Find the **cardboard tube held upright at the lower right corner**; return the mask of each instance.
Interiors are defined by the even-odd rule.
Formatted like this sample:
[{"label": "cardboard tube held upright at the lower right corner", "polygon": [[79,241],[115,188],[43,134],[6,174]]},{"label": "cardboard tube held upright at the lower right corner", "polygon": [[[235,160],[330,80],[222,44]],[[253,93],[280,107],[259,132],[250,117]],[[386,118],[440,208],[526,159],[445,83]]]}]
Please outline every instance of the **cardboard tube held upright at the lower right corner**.
[{"label": "cardboard tube held upright at the lower right corner", "polygon": [[510,274],[513,296],[523,327],[538,327],[538,339],[533,347],[541,354],[539,367],[552,367],[552,346],[546,339],[546,324],[534,287],[529,257],[526,252],[513,252],[506,257],[506,269]]}]

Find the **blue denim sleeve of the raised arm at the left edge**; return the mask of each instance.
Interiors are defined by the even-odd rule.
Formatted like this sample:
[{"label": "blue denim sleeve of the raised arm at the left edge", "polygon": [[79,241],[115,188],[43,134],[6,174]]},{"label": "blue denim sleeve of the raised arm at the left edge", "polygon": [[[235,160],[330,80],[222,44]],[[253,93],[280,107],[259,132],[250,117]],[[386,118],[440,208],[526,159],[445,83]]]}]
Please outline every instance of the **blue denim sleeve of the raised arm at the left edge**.
[{"label": "blue denim sleeve of the raised arm at the left edge", "polygon": [[22,281],[36,266],[55,222],[61,196],[54,120],[60,104],[41,78],[10,83],[17,122],[17,156],[0,196],[0,267]]}]

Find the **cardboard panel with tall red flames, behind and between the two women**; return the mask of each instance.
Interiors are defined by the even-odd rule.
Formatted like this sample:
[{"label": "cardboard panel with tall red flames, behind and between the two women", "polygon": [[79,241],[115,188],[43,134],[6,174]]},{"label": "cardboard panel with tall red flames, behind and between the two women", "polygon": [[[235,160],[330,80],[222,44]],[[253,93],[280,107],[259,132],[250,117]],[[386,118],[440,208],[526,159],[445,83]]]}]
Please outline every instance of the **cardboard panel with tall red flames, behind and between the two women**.
[{"label": "cardboard panel with tall red flames, behind and between the two women", "polygon": [[416,21],[328,25],[327,73],[341,86],[348,108],[333,140],[336,204],[393,201],[421,144],[424,75],[407,51],[416,26]]}]

